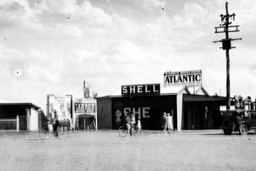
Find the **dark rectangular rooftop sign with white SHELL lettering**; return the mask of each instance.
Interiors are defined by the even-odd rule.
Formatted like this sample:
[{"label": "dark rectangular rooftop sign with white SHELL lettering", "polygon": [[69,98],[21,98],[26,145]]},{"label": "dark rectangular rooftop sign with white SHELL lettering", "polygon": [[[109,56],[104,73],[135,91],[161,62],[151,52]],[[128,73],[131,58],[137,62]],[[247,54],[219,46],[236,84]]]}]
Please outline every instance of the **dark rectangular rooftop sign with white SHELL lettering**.
[{"label": "dark rectangular rooftop sign with white SHELL lettering", "polygon": [[160,83],[122,86],[122,95],[160,94]]}]

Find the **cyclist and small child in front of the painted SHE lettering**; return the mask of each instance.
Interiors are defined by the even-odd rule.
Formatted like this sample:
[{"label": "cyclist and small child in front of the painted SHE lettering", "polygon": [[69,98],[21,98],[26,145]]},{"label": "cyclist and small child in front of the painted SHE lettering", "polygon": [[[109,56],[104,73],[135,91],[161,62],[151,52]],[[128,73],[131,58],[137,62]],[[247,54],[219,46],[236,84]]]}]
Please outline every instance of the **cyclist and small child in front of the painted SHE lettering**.
[{"label": "cyclist and small child in front of the painted SHE lettering", "polygon": [[[127,127],[127,131],[129,131],[130,135],[132,135],[134,130],[134,125],[136,123],[135,116],[131,112],[131,110],[128,111],[128,114],[125,113],[124,116],[125,116],[125,125]],[[137,121],[137,129],[141,129],[140,118]]]}]

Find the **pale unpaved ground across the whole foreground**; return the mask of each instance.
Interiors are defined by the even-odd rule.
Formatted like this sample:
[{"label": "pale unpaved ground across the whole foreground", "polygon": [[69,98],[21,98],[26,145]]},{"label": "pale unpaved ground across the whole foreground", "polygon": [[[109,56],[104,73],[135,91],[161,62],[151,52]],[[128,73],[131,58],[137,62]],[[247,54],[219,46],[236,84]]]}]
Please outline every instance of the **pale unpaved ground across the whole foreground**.
[{"label": "pale unpaved ground across the whole foreground", "polygon": [[0,133],[0,170],[256,170],[256,134],[221,130],[119,137],[76,131],[68,139]]}]

